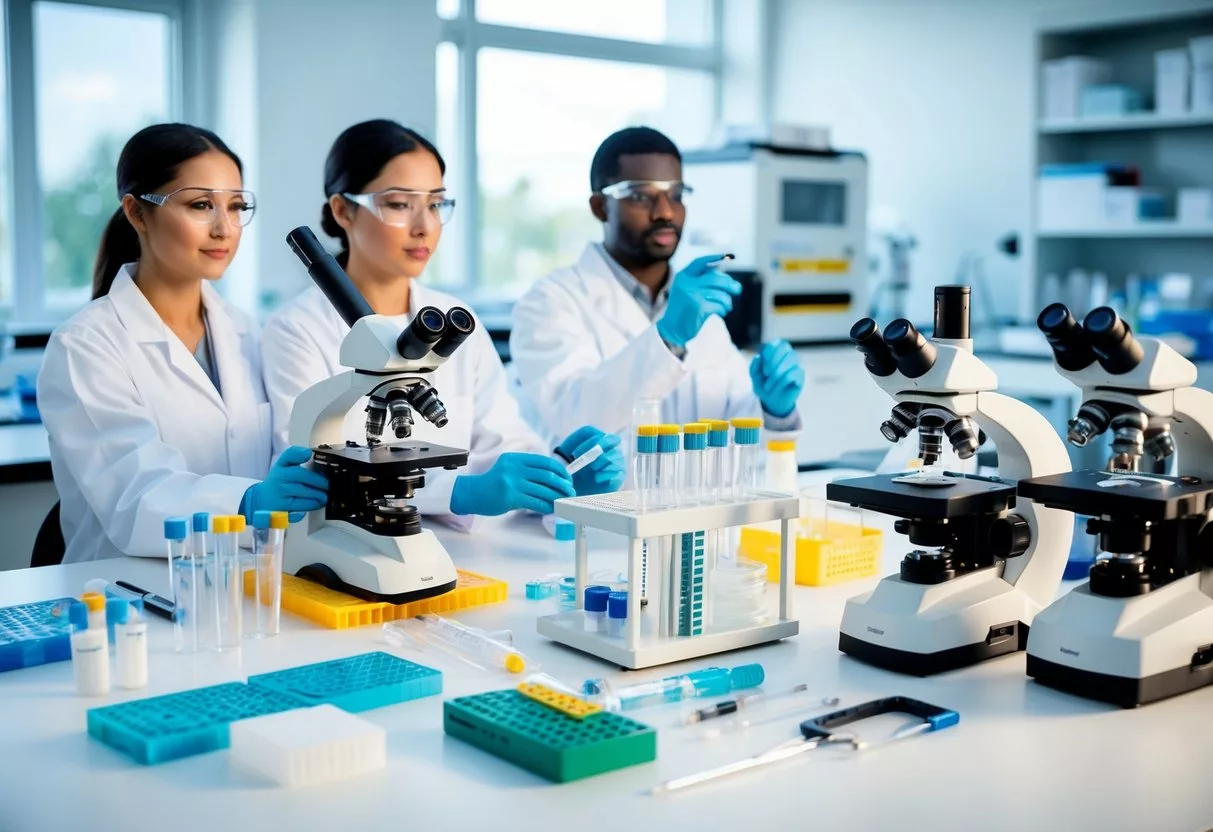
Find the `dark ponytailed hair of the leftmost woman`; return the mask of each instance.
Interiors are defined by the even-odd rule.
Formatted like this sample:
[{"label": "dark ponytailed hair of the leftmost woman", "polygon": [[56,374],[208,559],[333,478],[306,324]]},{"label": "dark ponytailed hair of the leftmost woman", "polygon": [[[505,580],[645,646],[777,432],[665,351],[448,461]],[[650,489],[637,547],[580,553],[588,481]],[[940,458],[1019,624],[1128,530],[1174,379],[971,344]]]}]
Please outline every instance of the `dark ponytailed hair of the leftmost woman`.
[{"label": "dark ponytailed hair of the leftmost woman", "polygon": [[[118,199],[126,194],[139,199],[172,182],[177,169],[204,153],[217,150],[235,163],[244,173],[240,158],[210,130],[189,124],[154,124],[126,142],[118,156]],[[104,297],[114,285],[118,270],[139,258],[139,237],[119,205],[101,235],[101,247],[92,267],[92,298]]]}]

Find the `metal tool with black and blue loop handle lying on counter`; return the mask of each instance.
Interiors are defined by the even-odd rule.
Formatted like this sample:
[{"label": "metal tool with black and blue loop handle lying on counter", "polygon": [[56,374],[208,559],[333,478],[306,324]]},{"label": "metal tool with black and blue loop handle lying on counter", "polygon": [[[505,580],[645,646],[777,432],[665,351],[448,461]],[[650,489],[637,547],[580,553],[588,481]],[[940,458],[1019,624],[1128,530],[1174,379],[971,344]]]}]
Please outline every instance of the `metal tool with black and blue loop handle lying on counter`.
[{"label": "metal tool with black and blue loop handle lying on counter", "polygon": [[[853,731],[837,731],[835,729],[852,723],[878,717],[885,713],[907,713],[913,717],[909,724],[899,728],[892,735],[876,742],[865,742]],[[654,794],[673,792],[690,786],[697,786],[711,780],[718,780],[730,774],[756,769],[770,763],[796,757],[805,751],[813,751],[822,746],[849,746],[853,751],[875,748],[888,742],[904,740],[918,734],[939,731],[950,728],[961,720],[961,716],[950,708],[941,708],[938,705],[928,705],[907,696],[888,696],[872,700],[849,708],[842,708],[814,719],[805,719],[801,723],[801,736],[781,742],[774,748],[768,748],[761,754],[747,757],[735,763],[728,763],[714,769],[689,774],[684,777],[676,777],[654,787]]]}]

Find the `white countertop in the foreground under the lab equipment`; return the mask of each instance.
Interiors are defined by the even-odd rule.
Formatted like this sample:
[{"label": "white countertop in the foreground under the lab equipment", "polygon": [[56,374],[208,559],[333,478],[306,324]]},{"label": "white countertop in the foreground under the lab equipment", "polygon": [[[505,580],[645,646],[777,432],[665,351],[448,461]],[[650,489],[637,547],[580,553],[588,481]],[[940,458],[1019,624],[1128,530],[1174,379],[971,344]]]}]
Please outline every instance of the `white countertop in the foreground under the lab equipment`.
[{"label": "white countertop in the foreground under the lab equipment", "polygon": [[[518,646],[565,682],[625,674],[542,639],[535,617],[554,602],[528,602],[526,579],[571,571],[571,553],[535,520],[511,520],[477,535],[440,530],[461,566],[509,581],[506,604],[459,617],[514,631]],[[885,569],[901,554],[887,548]],[[623,563],[622,548],[591,548],[590,566]],[[126,579],[165,592],[163,562],[108,560],[0,574],[0,605],[79,593],[86,579]],[[798,587],[801,636],[696,662],[630,672],[643,680],[710,663],[762,662],[768,690],[807,682],[803,717],[904,694],[955,708],[959,725],[860,756],[810,752],[762,773],[653,797],[660,781],[757,753],[796,736],[799,716],[717,740],[673,728],[680,706],[634,712],[659,730],[657,760],[553,785],[449,739],[442,700],[511,686],[514,680],[442,654],[404,651],[444,672],[443,696],[361,714],[388,737],[388,768],[346,782],[290,793],[229,771],[226,752],[141,767],[85,733],[89,707],[243,679],[313,661],[387,649],[378,627],[328,631],[284,615],[283,633],[245,642],[240,655],[177,656],[170,627],[152,619],[152,682],[101,700],[75,695],[68,662],[0,674],[0,830],[95,832],[148,822],[173,832],[220,828],[400,830],[1198,830],[1213,824],[1213,689],[1121,711],[1060,694],[1024,674],[1023,654],[936,678],[901,677],[837,650],[844,600],[873,580]],[[770,589],[774,595],[774,588]],[[888,725],[882,728],[888,729]]]}]

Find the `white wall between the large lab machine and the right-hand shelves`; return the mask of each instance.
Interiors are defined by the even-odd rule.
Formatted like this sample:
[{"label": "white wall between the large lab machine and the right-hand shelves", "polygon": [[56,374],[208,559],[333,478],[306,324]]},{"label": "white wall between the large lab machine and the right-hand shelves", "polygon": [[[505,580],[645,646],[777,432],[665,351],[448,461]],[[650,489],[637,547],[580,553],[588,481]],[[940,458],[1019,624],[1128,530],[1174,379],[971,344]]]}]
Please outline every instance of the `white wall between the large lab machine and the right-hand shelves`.
[{"label": "white wall between the large lab machine and the right-hand shelves", "polygon": [[[1093,2],[776,2],[775,118],[828,124],[837,147],[867,153],[870,205],[896,209],[918,238],[910,314],[929,320],[930,287],[952,280],[964,252],[1026,234],[1037,21]],[[986,274],[1013,314],[1023,258],[993,255]]]}]

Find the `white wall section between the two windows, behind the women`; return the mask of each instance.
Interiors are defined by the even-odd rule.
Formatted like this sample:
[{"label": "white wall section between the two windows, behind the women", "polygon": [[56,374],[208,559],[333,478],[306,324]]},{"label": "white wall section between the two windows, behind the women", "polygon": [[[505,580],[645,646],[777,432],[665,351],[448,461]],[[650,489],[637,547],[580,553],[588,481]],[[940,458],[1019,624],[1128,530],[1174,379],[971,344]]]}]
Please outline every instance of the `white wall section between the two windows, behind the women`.
[{"label": "white wall section between the two windows, behind the women", "polygon": [[222,0],[212,8],[222,61],[213,121],[244,156],[258,203],[227,292],[256,309],[258,295],[285,300],[309,285],[285,238],[303,224],[320,234],[324,159],[342,130],[388,118],[434,135],[439,19],[433,0]]}]

